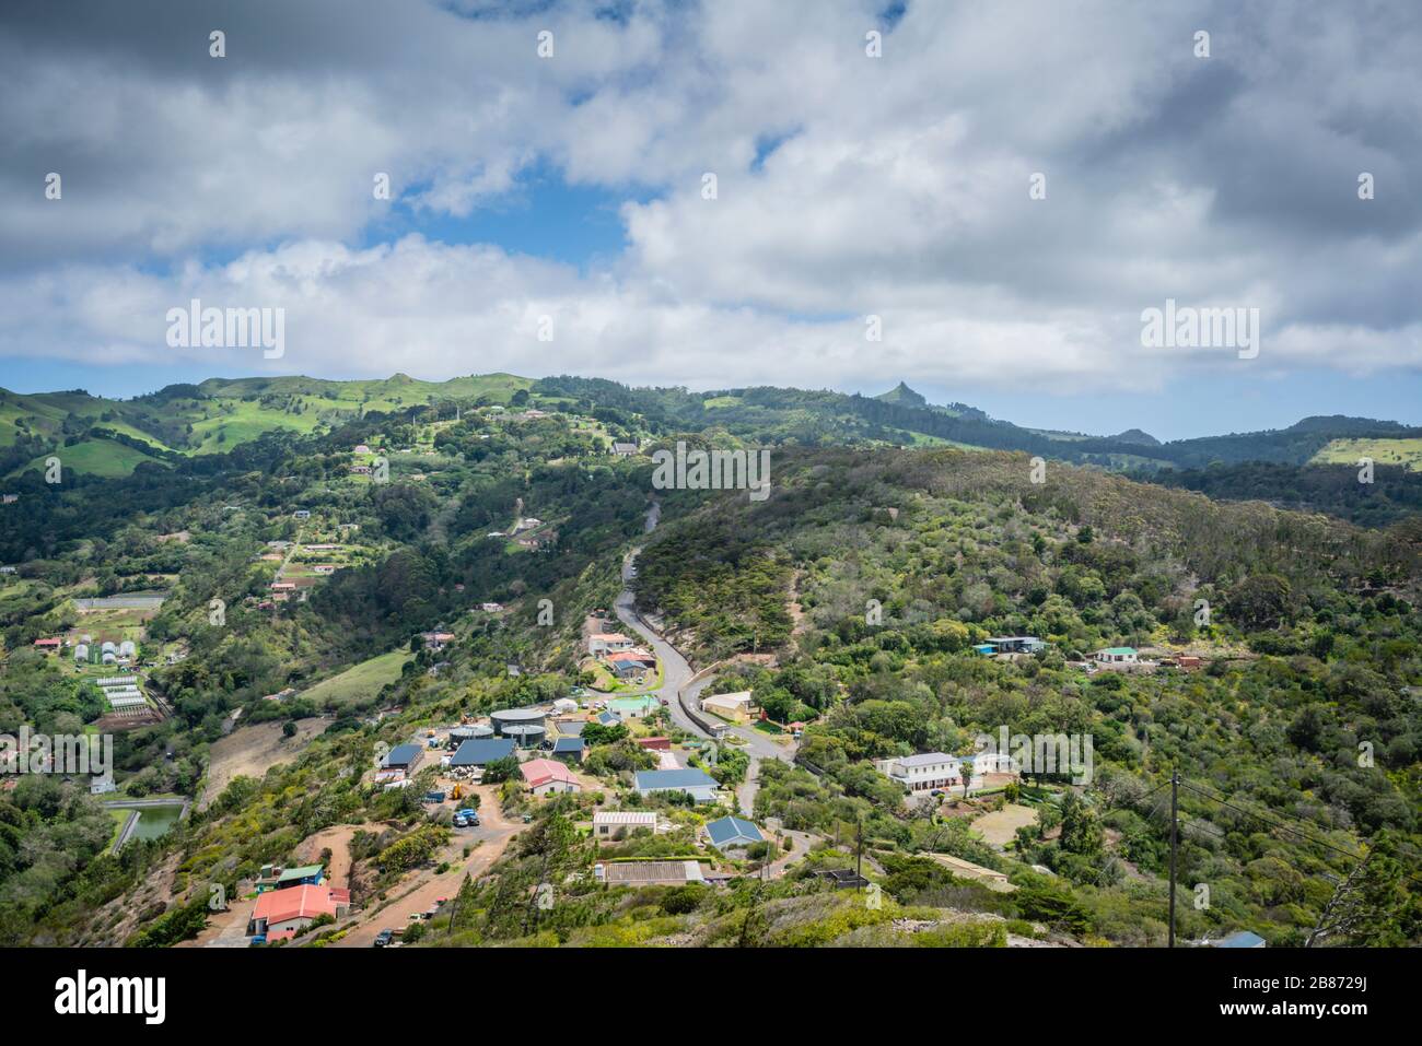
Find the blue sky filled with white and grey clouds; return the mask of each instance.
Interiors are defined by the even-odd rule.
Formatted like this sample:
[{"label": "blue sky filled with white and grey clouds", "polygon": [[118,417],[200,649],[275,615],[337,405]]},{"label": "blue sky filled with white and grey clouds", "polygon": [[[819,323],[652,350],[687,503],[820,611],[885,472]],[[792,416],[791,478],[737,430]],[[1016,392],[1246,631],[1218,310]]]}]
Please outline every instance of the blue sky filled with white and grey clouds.
[{"label": "blue sky filled with white and grey clouds", "polygon": [[[1411,0],[6,0],[0,385],[904,379],[1092,432],[1422,424],[1419,54]],[[192,298],[284,308],[284,355],[169,347]],[[1257,308],[1258,354],[1142,345],[1167,298]]]}]

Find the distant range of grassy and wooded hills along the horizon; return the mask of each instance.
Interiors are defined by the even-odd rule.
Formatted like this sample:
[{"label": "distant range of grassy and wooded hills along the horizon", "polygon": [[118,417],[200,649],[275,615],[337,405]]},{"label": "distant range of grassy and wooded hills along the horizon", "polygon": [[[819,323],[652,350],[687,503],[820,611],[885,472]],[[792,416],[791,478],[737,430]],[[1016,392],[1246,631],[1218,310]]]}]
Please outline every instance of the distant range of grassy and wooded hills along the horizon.
[{"label": "distant range of grassy and wooded hills along the horizon", "polygon": [[1287,429],[1167,443],[1140,429],[1091,436],[997,421],[967,404],[933,405],[902,381],[887,392],[863,397],[776,387],[711,392],[630,388],[572,375],[532,379],[486,374],[444,382],[407,374],[370,381],[290,375],[209,378],[134,399],[105,399],[81,389],[34,395],[0,389],[0,476],[36,468],[57,448],[65,451],[65,468],[100,476],[128,475],[144,463],[165,465],[176,456],[230,451],[266,432],[327,432],[373,412],[412,415],[431,405],[505,405],[515,395],[648,438],[720,429],[762,445],[948,443],[1146,472],[1244,462],[1305,466],[1315,458],[1355,458],[1355,451],[1364,452],[1359,448],[1368,448],[1365,452],[1379,462],[1401,463],[1415,458],[1412,448],[1422,436],[1422,429],[1394,421],[1344,415],[1304,418]]}]

